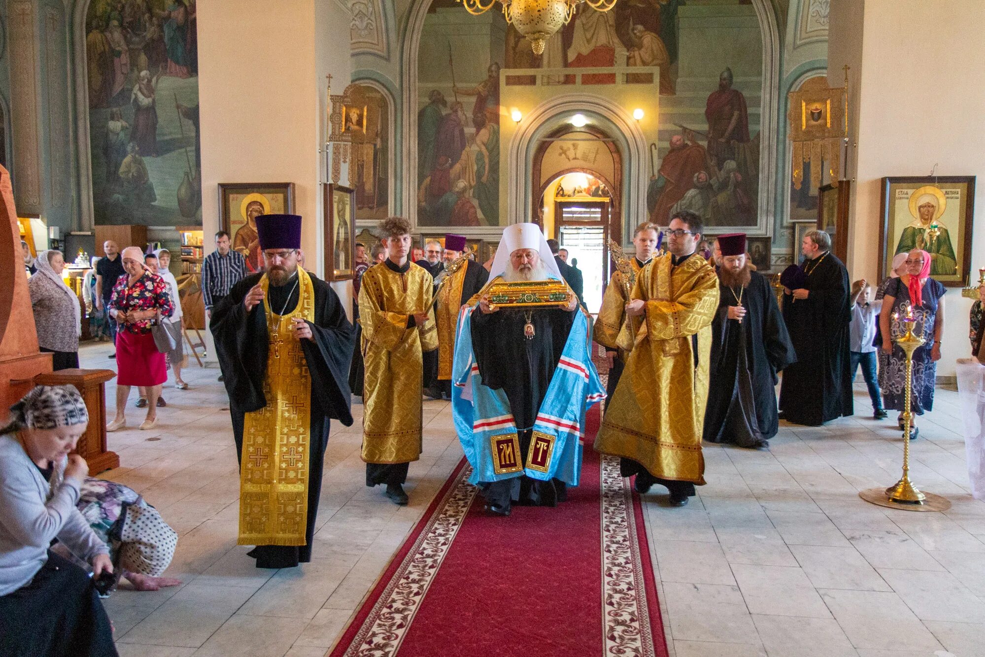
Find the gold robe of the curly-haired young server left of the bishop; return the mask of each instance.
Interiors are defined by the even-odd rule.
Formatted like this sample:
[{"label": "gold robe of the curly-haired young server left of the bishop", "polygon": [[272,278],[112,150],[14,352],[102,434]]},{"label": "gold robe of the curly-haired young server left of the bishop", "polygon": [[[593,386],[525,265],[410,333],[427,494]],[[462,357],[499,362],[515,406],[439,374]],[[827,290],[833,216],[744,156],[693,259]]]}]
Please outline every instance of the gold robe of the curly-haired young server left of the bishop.
[{"label": "gold robe of the curly-haired young server left of the bishop", "polygon": [[431,302],[433,283],[411,264],[399,274],[385,263],[362,275],[360,288],[363,382],[362,460],[407,463],[421,456],[422,352],[437,349],[434,315],[407,328],[409,315]]}]

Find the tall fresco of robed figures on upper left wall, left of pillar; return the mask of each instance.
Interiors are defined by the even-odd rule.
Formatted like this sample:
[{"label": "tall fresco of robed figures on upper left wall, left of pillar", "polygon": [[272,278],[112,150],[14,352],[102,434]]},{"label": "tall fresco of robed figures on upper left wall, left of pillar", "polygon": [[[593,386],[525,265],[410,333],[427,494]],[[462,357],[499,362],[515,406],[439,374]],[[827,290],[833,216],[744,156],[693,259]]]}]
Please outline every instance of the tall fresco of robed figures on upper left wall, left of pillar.
[{"label": "tall fresco of robed figures on upper left wall, left of pillar", "polygon": [[93,0],[86,72],[96,224],[200,225],[195,0]]}]

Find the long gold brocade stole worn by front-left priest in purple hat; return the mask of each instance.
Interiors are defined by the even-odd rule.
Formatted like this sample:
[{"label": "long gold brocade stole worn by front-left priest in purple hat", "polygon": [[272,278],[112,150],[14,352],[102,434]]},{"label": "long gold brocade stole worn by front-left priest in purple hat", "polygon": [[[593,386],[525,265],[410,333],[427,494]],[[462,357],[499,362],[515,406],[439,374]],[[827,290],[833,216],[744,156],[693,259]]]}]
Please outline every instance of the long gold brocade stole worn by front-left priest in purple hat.
[{"label": "long gold brocade stole worn by front-left priest in purple hat", "polygon": [[260,279],[270,347],[263,394],[267,405],[243,419],[239,467],[239,545],[302,546],[307,529],[311,374],[291,319],[314,321],[314,287],[297,268],[297,306],[278,315]]}]

